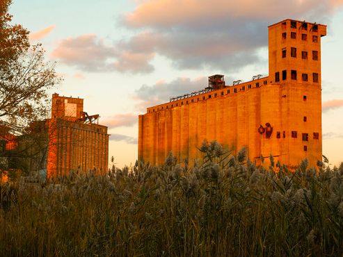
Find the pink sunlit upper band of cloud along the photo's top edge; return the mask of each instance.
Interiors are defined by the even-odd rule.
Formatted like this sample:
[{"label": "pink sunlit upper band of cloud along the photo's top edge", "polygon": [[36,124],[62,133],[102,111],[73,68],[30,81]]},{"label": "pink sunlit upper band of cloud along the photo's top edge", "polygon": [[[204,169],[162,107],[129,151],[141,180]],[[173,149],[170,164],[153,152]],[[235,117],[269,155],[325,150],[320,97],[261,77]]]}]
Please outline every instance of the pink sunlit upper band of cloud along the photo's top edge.
[{"label": "pink sunlit upper band of cloud along the photo's top edge", "polygon": [[[175,26],[209,20],[280,19],[308,14],[328,13],[342,6],[342,0],[150,0],[138,3],[126,15],[129,26]],[[168,10],[168,11],[166,11]]]}]

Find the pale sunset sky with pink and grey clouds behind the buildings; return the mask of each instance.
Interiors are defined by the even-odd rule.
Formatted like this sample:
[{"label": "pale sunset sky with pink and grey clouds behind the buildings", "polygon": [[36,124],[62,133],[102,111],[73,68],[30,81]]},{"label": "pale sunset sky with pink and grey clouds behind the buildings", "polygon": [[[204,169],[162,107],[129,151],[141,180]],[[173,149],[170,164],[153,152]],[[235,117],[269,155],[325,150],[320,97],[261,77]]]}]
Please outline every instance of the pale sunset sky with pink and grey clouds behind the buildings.
[{"label": "pale sunset sky with pink and grey clouds behind the buildings", "polygon": [[[109,157],[137,158],[138,115],[201,90],[268,75],[268,26],[298,19],[328,26],[321,40],[323,154],[343,161],[343,0],[13,0],[13,22],[42,43],[63,82],[109,126]],[[111,163],[110,163],[111,164]]]}]

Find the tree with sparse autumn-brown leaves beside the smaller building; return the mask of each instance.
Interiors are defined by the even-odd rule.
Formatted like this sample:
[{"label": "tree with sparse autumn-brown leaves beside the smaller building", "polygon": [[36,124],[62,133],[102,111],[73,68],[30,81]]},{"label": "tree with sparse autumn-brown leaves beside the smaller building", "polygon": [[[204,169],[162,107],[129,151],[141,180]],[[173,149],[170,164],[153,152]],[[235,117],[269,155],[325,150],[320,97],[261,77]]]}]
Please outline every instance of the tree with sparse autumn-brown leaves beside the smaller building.
[{"label": "tree with sparse autumn-brown leaves beside the smaller building", "polygon": [[[61,81],[54,70],[55,64],[45,62],[45,51],[41,44],[31,46],[29,31],[22,25],[11,24],[13,16],[8,13],[11,3],[12,0],[0,1],[0,144],[2,145],[13,133],[27,135],[26,128],[29,124],[47,117],[51,106],[49,90]],[[19,153],[24,151],[21,149]],[[2,151],[0,149],[0,159],[2,156],[9,158],[8,153],[3,151],[3,146]],[[16,157],[20,156],[17,154]]]}]

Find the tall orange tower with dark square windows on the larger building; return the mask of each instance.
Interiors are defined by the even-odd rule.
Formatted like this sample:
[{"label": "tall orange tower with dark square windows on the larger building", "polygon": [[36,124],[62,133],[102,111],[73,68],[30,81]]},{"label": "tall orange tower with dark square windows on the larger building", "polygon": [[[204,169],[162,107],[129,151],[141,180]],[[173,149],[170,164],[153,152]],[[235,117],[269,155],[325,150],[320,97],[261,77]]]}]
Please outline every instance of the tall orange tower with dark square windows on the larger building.
[{"label": "tall orange tower with dark square windows on the larger building", "polygon": [[326,25],[269,26],[269,78],[280,84],[281,163],[321,160],[321,37]]}]

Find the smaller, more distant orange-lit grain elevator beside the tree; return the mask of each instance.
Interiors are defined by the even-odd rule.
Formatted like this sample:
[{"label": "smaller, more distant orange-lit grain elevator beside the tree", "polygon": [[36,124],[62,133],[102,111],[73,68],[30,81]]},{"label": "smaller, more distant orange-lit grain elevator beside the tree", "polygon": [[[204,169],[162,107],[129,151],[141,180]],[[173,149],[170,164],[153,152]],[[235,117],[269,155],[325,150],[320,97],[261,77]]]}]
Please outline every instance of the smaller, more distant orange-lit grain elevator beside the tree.
[{"label": "smaller, more distant orange-lit grain elevator beside the tree", "polygon": [[107,172],[107,127],[84,123],[82,117],[83,99],[53,94],[51,119],[46,123],[49,131],[47,177],[67,176],[70,170]]}]

